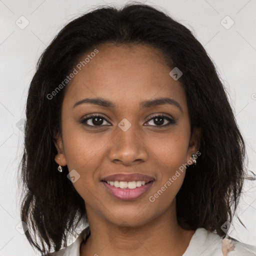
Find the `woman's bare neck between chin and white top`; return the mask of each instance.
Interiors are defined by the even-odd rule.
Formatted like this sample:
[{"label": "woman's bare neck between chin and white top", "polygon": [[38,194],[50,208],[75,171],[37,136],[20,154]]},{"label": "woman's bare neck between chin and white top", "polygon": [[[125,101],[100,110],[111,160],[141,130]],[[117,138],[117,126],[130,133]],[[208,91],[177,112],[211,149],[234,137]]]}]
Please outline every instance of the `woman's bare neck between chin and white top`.
[{"label": "woman's bare neck between chin and white top", "polygon": [[[87,210],[87,209],[86,209]],[[182,255],[195,230],[182,229],[175,207],[143,225],[116,225],[94,214],[90,218],[90,236],[80,246],[80,255]],[[91,215],[92,216],[92,215]]]}]

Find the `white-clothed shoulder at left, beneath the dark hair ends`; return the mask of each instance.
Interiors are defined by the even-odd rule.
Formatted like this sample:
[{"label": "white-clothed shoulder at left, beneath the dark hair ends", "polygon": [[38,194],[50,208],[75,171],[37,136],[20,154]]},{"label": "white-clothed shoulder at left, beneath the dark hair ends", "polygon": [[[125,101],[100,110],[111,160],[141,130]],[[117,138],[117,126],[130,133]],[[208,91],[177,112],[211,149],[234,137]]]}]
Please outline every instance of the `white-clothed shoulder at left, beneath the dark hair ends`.
[{"label": "white-clothed shoulder at left, beneath the dark hair ends", "polygon": [[75,241],[65,248],[58,251],[48,253],[48,256],[79,256],[80,245],[83,241],[86,241],[90,235],[89,227],[84,228],[81,233],[77,236]]}]

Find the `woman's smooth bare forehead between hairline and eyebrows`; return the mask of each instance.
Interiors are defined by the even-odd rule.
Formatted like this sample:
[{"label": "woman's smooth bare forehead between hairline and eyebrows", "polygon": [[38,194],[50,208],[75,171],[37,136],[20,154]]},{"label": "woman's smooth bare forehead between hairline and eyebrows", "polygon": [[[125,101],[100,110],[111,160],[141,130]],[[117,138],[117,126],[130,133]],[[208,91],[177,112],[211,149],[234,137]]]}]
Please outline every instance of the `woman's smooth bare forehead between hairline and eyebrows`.
[{"label": "woman's smooth bare forehead between hairline and eyebrows", "polygon": [[[105,44],[96,48],[98,53],[90,56],[69,82],[64,100],[74,104],[86,97],[103,97],[121,106],[170,96],[186,104],[183,86],[169,75],[172,68],[160,50],[147,45]],[[83,54],[78,62],[89,54]]]}]

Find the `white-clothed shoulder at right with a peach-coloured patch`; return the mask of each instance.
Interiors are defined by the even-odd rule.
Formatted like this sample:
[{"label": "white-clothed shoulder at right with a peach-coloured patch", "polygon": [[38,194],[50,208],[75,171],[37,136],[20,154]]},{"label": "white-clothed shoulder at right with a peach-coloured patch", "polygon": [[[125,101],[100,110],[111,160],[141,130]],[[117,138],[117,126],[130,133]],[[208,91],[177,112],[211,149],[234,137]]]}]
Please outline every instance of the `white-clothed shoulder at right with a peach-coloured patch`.
[{"label": "white-clothed shoulder at right with a peach-coloured patch", "polygon": [[256,246],[232,237],[222,238],[203,227],[197,228],[183,256],[256,256]]}]

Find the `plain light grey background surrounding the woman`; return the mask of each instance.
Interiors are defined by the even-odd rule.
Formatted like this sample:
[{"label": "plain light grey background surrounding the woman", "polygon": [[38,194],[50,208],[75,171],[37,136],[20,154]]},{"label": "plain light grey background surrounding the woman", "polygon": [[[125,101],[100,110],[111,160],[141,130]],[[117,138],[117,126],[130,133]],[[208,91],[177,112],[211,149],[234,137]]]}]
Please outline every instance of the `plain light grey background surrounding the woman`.
[{"label": "plain light grey background surrounding the woman", "polygon": [[[0,256],[36,255],[25,235],[15,228],[20,225],[17,166],[23,142],[22,125],[19,129],[16,123],[25,118],[24,104],[35,63],[68,21],[98,4],[125,2],[0,0]],[[165,9],[191,29],[204,45],[218,67],[235,110],[246,141],[248,167],[256,172],[256,0],[155,0],[143,3]],[[20,18],[22,15],[25,18]],[[24,29],[15,24],[16,20],[21,23],[20,19],[23,25],[25,19],[29,22]],[[234,24],[228,28],[232,20]],[[235,218],[229,233],[252,245],[256,245],[254,187],[255,182],[246,182],[237,212],[247,230]]]}]

